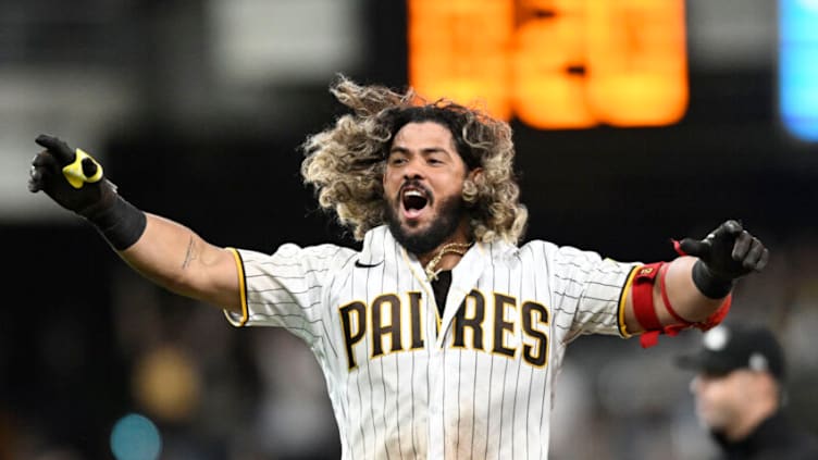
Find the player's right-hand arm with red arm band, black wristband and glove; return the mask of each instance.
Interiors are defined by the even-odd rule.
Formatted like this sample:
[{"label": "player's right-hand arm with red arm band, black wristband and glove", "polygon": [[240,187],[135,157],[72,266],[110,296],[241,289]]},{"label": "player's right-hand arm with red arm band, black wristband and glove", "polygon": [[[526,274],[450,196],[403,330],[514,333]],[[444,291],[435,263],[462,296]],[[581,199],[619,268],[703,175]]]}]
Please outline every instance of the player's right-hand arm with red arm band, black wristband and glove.
[{"label": "player's right-hand arm with red arm band, black wristband and glove", "polygon": [[[769,250],[736,221],[724,222],[702,240],[685,238],[678,243],[678,250],[683,256],[647,265],[644,271],[655,272],[637,272],[629,285],[624,312],[629,333],[711,327],[727,313],[736,281],[761,271],[769,259]],[[642,290],[649,298],[640,295],[640,276],[653,276],[642,286],[649,288]]]}]

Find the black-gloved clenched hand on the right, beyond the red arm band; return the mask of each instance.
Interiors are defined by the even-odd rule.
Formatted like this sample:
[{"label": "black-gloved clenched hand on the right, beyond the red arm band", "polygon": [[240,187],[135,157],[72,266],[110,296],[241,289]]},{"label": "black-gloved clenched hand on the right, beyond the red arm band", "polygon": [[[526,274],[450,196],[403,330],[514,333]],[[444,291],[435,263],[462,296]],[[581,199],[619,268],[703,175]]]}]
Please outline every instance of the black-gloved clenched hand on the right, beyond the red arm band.
[{"label": "black-gloved clenched hand on the right, beyond the red arm band", "polygon": [[694,266],[693,277],[697,287],[708,297],[727,295],[718,289],[718,285],[729,291],[735,279],[752,272],[760,272],[770,256],[761,240],[734,220],[722,223],[704,239],[684,238],[678,246],[682,252],[699,259]]}]

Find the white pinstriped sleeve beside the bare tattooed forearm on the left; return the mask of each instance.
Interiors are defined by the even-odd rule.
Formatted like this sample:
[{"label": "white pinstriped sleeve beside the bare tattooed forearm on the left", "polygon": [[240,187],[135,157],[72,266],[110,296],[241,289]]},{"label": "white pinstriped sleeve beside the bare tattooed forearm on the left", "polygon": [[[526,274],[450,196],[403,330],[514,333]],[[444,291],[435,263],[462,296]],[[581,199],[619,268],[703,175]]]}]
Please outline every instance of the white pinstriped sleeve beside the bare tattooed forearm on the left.
[{"label": "white pinstriped sleeve beside the bare tattooed forearm on the left", "polygon": [[286,244],[273,254],[232,250],[239,273],[241,313],[225,310],[231,324],[284,327],[308,343],[321,335],[325,287],[338,261],[349,258],[349,249]]}]

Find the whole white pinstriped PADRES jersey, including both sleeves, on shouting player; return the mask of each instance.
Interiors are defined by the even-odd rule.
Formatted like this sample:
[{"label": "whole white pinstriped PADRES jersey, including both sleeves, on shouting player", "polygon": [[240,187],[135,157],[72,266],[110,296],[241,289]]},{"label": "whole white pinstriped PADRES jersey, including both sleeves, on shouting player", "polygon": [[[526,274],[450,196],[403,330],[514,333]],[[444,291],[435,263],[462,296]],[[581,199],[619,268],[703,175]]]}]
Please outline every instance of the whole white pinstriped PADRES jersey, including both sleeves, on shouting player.
[{"label": "whole white pinstriped PADRES jersey, including both sleeves, on shouting player", "polygon": [[[566,346],[622,335],[639,263],[531,241],[474,245],[443,318],[420,263],[388,228],[335,245],[235,250],[243,314],[285,327],[326,378],[344,459],[545,459]],[[282,372],[286,372],[283,370]]]}]

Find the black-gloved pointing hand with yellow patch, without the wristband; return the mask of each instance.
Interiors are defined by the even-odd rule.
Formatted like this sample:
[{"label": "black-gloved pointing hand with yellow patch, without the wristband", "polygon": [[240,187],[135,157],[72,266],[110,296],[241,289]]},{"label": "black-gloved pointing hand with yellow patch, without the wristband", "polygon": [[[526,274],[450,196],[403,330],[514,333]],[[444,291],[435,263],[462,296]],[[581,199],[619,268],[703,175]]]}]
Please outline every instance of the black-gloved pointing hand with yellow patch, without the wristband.
[{"label": "black-gloved pointing hand with yellow patch, without the wristband", "polygon": [[102,165],[88,153],[45,134],[35,142],[45,150],[32,160],[28,190],[42,190],[61,207],[85,217],[113,204],[116,186],[104,177]]}]

